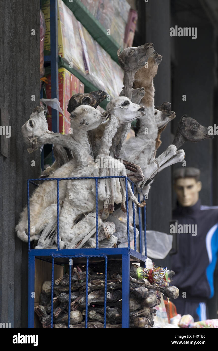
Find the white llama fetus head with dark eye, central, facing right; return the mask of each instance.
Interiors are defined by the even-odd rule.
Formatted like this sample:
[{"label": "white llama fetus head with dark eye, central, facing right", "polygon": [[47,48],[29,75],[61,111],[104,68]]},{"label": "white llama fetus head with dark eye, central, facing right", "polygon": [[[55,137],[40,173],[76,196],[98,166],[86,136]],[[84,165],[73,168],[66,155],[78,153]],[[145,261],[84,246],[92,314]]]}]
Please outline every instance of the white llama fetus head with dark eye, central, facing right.
[{"label": "white llama fetus head with dark eye, central, facing right", "polygon": [[113,98],[107,105],[107,111],[118,121],[118,124],[130,123],[137,118],[144,117],[144,106],[133,104],[127,97]]}]

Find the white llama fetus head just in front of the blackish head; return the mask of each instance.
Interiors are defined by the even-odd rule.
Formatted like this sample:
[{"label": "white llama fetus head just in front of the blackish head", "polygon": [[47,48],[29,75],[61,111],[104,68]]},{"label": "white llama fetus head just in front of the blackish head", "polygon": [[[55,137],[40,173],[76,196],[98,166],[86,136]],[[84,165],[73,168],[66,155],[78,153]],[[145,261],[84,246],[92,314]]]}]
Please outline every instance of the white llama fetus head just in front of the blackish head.
[{"label": "white llama fetus head just in front of the blackish head", "polygon": [[107,118],[106,112],[100,112],[89,105],[80,105],[70,114],[71,127],[85,132],[97,128]]}]

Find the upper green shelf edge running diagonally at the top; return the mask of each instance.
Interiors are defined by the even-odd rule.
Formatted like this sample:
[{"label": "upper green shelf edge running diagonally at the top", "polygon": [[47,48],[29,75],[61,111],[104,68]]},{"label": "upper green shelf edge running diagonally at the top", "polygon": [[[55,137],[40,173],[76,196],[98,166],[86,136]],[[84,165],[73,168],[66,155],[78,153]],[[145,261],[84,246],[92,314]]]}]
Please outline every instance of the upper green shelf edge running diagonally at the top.
[{"label": "upper green shelf edge running diagonally at the top", "polygon": [[[76,19],[82,23],[82,25],[91,34],[92,38],[98,42],[98,44],[105,49],[105,51],[111,55],[111,58],[118,63],[117,51],[119,44],[111,37],[107,35],[106,29],[99,23],[99,21],[87,10],[87,8],[79,0],[63,0],[64,4],[69,7],[73,12]],[[122,50],[122,47],[121,47]]]}]

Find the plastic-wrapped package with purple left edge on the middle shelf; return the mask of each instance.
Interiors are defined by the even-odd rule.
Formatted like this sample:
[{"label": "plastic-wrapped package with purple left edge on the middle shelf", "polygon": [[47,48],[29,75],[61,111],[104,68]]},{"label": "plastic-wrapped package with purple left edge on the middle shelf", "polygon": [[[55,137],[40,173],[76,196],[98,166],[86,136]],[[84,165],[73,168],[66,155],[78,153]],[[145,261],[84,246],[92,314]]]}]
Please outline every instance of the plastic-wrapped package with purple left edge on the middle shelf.
[{"label": "plastic-wrapped package with purple left edge on the middle shelf", "polygon": [[100,64],[98,61],[96,41],[81,24],[79,24],[79,26],[81,28],[82,35],[81,41],[83,43],[85,60],[84,66],[87,68],[86,73],[88,73],[87,79],[89,79],[97,88],[104,90],[104,82],[99,69]]}]

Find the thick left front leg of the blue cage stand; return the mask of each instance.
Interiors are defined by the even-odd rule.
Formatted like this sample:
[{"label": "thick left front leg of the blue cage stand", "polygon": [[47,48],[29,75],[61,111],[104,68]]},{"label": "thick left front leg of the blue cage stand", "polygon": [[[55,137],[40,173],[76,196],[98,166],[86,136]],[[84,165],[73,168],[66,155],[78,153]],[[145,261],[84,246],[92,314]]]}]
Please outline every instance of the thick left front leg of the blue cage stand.
[{"label": "thick left front leg of the blue cage stand", "polygon": [[35,256],[29,256],[28,270],[28,328],[34,328]]}]

